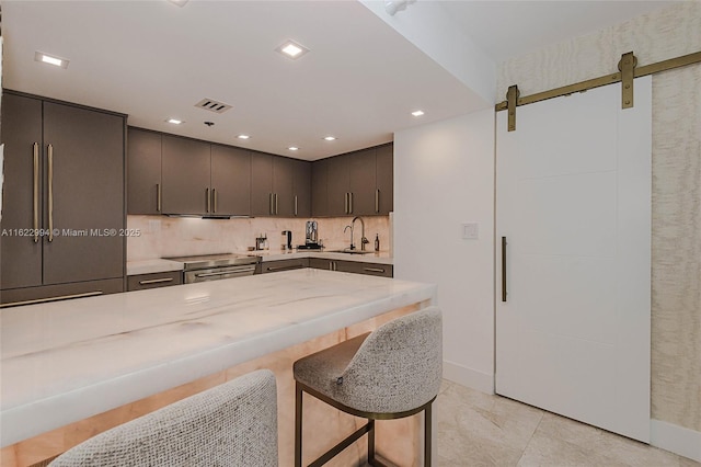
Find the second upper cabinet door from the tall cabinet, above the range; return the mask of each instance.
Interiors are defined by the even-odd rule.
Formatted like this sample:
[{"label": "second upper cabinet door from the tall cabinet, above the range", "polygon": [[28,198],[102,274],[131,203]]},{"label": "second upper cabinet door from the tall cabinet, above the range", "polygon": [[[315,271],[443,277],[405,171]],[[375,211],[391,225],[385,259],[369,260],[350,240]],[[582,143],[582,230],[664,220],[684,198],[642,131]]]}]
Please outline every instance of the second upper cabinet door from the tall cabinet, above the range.
[{"label": "second upper cabinet door from the tall cabinet, above the range", "polygon": [[163,135],[163,214],[210,214],[210,147],[205,141]]}]

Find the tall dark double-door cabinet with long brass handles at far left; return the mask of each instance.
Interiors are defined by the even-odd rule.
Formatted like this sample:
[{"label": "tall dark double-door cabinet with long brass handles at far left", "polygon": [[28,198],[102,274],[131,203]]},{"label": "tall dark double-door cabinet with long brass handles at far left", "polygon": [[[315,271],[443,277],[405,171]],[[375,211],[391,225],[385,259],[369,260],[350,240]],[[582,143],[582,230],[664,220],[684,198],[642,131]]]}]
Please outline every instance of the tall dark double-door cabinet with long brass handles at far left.
[{"label": "tall dark double-door cabinet with long brass handles at far left", "polygon": [[123,291],[123,115],[3,93],[0,301]]}]

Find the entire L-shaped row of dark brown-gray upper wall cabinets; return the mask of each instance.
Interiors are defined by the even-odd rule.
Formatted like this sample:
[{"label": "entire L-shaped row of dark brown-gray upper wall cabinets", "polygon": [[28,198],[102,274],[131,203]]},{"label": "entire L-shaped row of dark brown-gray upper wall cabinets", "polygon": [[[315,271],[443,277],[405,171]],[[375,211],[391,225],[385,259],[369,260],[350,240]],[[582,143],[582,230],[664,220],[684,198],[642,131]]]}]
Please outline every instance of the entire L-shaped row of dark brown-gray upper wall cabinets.
[{"label": "entire L-shaped row of dark brown-gray upper wall cabinets", "polygon": [[314,162],[129,128],[129,214],[387,215],[392,145]]}]

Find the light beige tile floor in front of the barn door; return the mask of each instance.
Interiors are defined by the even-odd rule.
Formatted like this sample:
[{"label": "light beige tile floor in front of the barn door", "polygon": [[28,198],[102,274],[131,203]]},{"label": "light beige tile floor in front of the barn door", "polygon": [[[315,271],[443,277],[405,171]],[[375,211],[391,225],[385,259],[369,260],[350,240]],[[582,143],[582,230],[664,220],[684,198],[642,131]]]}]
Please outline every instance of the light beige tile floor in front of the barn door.
[{"label": "light beige tile floor in front of the barn door", "polygon": [[444,380],[437,411],[438,467],[701,464],[499,396]]}]

